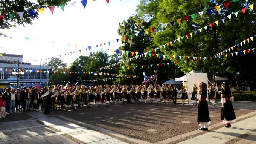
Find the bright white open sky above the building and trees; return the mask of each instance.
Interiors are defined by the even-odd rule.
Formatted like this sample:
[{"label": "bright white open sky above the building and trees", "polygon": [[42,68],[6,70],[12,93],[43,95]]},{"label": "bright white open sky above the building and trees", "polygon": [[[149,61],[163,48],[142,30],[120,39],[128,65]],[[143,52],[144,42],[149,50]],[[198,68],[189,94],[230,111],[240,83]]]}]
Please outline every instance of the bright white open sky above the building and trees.
[{"label": "bright white open sky above the building and trees", "polygon": [[[121,36],[117,33],[119,23],[136,13],[140,0],[110,0],[109,4],[106,0],[88,0],[85,9],[80,1],[70,1],[73,2],[77,2],[75,6],[67,4],[64,12],[60,7],[55,7],[53,14],[50,9],[45,9],[44,16],[40,13],[32,25],[1,29],[12,39],[0,37],[0,47],[3,48],[0,53],[23,55],[23,62],[32,64],[43,64],[48,61],[45,58],[61,55],[58,58],[70,65],[80,55],[100,51],[102,44],[103,51],[111,55],[113,49],[121,45]],[[111,41],[110,45],[108,41]],[[90,51],[87,46],[92,46]],[[70,52],[72,55],[64,55]]]}]

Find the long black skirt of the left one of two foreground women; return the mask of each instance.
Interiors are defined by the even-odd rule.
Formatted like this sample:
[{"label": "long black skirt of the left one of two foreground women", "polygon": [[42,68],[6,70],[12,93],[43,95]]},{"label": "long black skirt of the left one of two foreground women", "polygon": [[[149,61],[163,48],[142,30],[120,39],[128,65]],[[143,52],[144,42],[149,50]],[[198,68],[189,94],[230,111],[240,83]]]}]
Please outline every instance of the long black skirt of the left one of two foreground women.
[{"label": "long black skirt of the left one of two foreground women", "polygon": [[198,104],[198,123],[211,121],[207,101],[200,101]]}]

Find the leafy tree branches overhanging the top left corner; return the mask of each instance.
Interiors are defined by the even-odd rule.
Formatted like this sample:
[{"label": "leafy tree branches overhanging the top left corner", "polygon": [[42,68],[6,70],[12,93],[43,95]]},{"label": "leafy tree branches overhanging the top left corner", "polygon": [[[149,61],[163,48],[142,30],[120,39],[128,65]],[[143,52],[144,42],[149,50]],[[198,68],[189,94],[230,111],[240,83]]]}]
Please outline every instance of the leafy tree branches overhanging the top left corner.
[{"label": "leafy tree branches overhanging the top left corner", "polygon": [[[38,18],[38,9],[48,6],[60,6],[67,4],[70,0],[37,0],[37,3],[31,0],[0,0],[0,12],[3,14],[3,20],[0,20],[0,29],[9,29],[16,25],[32,24],[32,20]],[[33,17],[30,16],[29,10],[34,10]],[[23,19],[17,12],[24,12]],[[13,15],[12,20],[11,15]],[[1,33],[0,33],[1,35]]]}]

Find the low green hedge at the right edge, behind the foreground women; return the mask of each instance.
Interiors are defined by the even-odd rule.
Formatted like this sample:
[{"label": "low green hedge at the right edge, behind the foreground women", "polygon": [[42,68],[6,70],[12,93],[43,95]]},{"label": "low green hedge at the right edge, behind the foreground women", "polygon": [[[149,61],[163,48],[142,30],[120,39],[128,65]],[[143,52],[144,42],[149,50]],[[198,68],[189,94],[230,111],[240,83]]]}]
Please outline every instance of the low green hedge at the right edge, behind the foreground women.
[{"label": "low green hedge at the right edge, behind the foreground women", "polygon": [[256,101],[256,92],[232,92],[235,101]]}]

